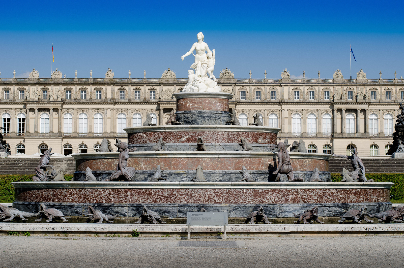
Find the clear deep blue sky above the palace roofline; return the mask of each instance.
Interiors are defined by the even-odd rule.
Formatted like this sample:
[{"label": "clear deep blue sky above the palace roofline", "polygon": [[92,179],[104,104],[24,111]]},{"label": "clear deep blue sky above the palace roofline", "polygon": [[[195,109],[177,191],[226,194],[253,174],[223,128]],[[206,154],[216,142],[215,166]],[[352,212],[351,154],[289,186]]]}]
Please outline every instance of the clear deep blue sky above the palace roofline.
[{"label": "clear deep blue sky above the palace roofline", "polygon": [[[198,6],[200,5],[200,6]],[[338,68],[352,76],[404,76],[403,1],[2,1],[2,78],[27,77],[32,68],[50,77],[159,78],[170,68],[186,78],[193,56],[181,61],[203,32],[216,51],[215,74],[229,68],[237,78],[332,78]]]}]

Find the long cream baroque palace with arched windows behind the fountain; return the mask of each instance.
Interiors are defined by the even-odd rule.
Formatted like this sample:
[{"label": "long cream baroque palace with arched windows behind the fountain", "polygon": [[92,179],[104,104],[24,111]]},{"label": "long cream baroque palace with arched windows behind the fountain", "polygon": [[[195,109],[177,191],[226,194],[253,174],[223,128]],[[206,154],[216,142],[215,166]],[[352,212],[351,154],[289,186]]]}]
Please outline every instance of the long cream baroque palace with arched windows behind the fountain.
[{"label": "long cream baroque palace with arched windows behind the fountain", "polygon": [[[241,125],[256,113],[264,126],[278,127],[278,141],[303,139],[308,152],[347,154],[357,148],[361,156],[385,155],[390,144],[404,79],[236,79],[223,70],[218,79],[222,91],[232,93]],[[176,78],[168,69],[162,78],[0,78],[2,133],[11,153],[35,154],[47,148],[59,154],[94,152],[103,138],[112,144],[125,139],[125,127],[141,126],[147,114],[156,125],[166,125],[176,108],[173,93],[188,79]],[[76,72],[77,77],[77,72]],[[304,77],[304,72],[303,72]]]}]

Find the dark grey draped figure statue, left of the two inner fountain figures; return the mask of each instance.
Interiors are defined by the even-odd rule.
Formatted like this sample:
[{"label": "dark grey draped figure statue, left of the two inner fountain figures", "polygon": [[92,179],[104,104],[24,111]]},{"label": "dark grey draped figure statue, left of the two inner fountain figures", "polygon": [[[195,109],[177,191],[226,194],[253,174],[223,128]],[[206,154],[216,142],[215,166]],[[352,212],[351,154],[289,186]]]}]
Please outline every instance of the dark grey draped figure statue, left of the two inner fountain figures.
[{"label": "dark grey draped figure statue, left of the two inner fountain figures", "polygon": [[132,181],[132,177],[135,174],[135,168],[128,167],[128,152],[133,152],[134,150],[136,150],[136,148],[128,148],[128,144],[125,141],[120,141],[120,139],[118,138],[116,139],[116,144],[114,145],[118,147],[118,151],[120,152],[120,154],[118,159],[118,166],[116,167],[116,171],[112,173],[110,180],[118,181],[121,176],[124,176],[126,180]]}]

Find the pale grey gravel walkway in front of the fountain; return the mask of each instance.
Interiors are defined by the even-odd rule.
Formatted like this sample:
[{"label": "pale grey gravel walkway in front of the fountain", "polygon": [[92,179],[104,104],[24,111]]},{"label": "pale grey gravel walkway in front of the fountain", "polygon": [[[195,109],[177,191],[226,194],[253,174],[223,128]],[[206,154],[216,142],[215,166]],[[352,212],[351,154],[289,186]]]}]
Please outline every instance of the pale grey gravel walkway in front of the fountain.
[{"label": "pale grey gravel walkway in front of the fountain", "polygon": [[0,236],[0,267],[402,268],[404,264],[404,234],[334,238],[255,237],[222,241],[236,241],[240,246],[236,249],[178,248],[179,241],[170,237]]}]

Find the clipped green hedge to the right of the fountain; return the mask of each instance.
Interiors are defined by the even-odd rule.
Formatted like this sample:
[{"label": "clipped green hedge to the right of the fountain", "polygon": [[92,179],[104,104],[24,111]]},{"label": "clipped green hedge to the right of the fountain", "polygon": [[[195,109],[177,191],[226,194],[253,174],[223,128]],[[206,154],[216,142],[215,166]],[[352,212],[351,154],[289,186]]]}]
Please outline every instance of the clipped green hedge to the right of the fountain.
[{"label": "clipped green hedge to the right of the fountain", "polygon": [[[342,175],[331,173],[332,181],[341,181]],[[376,182],[392,182],[390,189],[391,199],[404,199],[404,173],[366,173],[366,179],[373,179]]]}]

